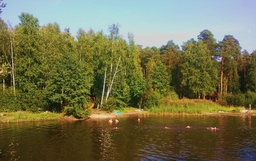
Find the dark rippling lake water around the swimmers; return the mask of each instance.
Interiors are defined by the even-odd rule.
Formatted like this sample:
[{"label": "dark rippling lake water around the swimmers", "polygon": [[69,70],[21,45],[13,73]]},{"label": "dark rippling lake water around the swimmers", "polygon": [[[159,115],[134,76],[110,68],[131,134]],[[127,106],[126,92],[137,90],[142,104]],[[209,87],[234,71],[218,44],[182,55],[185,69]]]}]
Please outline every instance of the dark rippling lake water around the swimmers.
[{"label": "dark rippling lake water around the swimmers", "polygon": [[1,123],[0,160],[256,160],[256,116],[137,119]]}]

